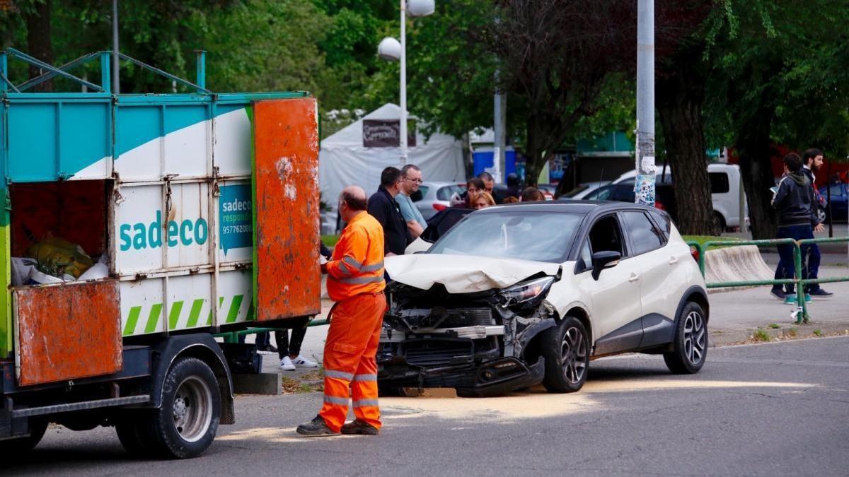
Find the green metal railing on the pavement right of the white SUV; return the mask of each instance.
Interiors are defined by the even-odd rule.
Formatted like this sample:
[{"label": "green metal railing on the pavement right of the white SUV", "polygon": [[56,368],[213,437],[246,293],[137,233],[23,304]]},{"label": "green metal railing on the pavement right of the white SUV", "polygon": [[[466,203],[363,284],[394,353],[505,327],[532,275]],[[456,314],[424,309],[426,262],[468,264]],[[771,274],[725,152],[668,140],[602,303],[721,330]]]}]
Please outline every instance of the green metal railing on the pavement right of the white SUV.
[{"label": "green metal railing on the pavement right of the white SUV", "polygon": [[705,277],[705,253],[711,247],[735,247],[743,245],[756,245],[764,247],[769,245],[792,245],[793,246],[793,267],[796,271],[795,278],[782,280],[745,280],[742,282],[712,282],[706,283],[709,289],[718,288],[734,288],[734,287],[751,287],[760,285],[784,285],[792,283],[796,286],[796,323],[807,323],[808,312],[807,304],[805,303],[805,286],[812,283],[835,283],[849,282],[849,277],[835,278],[809,278],[802,279],[801,267],[801,247],[802,245],[810,244],[835,244],[849,242],[849,237],[835,237],[830,239],[770,239],[770,240],[717,240],[700,244],[698,242],[687,242],[691,247],[694,247],[699,252],[699,270],[701,276]]}]

